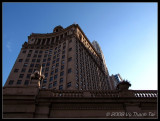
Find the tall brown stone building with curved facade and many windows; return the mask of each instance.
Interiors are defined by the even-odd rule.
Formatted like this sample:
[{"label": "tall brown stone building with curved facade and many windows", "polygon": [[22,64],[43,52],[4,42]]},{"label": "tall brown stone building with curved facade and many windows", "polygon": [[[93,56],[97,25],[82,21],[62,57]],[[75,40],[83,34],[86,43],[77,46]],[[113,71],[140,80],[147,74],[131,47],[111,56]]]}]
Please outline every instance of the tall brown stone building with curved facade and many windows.
[{"label": "tall brown stone building with curved facade and many windows", "polygon": [[32,33],[10,72],[5,86],[28,86],[38,65],[45,78],[41,88],[55,90],[108,90],[102,55],[78,24],[56,26],[52,33]]}]

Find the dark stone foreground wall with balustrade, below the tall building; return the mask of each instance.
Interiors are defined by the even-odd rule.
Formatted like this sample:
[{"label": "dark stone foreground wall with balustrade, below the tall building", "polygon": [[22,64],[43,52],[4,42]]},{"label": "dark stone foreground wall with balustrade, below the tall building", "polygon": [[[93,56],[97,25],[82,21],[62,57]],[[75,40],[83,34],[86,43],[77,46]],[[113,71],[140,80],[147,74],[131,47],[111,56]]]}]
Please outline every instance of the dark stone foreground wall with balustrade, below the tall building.
[{"label": "dark stone foreground wall with balustrade, below the tall building", "polygon": [[3,87],[3,118],[156,119],[157,98],[156,90],[128,90],[125,83],[92,91],[10,86]]}]

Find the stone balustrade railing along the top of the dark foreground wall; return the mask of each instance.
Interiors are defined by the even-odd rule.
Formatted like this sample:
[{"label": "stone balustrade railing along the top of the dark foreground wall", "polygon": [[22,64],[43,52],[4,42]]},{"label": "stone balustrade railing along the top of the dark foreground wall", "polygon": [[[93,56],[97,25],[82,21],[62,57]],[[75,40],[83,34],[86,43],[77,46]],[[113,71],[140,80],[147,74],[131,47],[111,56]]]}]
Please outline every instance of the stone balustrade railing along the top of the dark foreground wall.
[{"label": "stone balustrade railing along the top of the dark foreground wall", "polygon": [[[49,91],[52,97],[91,97],[91,98],[119,98],[125,96],[134,98],[158,97],[157,90],[128,90],[125,92],[119,90],[106,90],[106,91],[51,90],[51,89],[42,89],[42,90]],[[43,94],[45,94],[45,92]]]}]

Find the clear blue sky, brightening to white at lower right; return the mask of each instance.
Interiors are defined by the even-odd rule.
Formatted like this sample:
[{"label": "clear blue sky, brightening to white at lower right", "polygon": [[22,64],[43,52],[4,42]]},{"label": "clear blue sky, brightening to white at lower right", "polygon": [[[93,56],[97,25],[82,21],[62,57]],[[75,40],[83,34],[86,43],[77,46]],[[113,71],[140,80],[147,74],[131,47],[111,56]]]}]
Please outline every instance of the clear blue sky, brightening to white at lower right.
[{"label": "clear blue sky, brightening to white at lower right", "polygon": [[33,33],[51,33],[76,22],[104,53],[109,74],[130,89],[158,89],[157,3],[2,3],[3,85],[22,44]]}]

